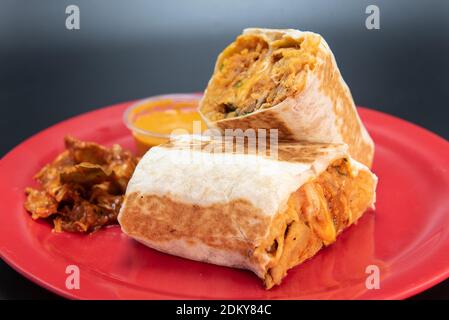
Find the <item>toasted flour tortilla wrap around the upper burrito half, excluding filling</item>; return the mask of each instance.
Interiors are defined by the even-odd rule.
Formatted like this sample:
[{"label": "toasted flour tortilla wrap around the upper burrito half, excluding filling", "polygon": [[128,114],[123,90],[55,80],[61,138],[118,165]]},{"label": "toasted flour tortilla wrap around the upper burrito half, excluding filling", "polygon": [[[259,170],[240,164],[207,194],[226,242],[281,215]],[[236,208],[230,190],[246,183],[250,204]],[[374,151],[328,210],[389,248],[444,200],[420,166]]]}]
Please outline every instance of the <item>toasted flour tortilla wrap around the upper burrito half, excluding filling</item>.
[{"label": "toasted flour tortilla wrap around the upper burrito half, excluding filling", "polygon": [[[211,128],[225,129],[278,129],[281,140],[322,143],[346,143],[349,153],[369,168],[373,162],[374,143],[361,122],[348,86],[343,80],[334,55],[326,41],[312,32],[293,29],[245,29],[243,35],[255,35],[268,45],[290,37],[301,39],[311,35],[320,37],[313,70],[306,70],[306,85],[296,96],[267,109],[233,118],[213,121],[203,112],[208,90],[199,105],[199,112]],[[214,74],[219,72],[223,53],[218,57]]]}]

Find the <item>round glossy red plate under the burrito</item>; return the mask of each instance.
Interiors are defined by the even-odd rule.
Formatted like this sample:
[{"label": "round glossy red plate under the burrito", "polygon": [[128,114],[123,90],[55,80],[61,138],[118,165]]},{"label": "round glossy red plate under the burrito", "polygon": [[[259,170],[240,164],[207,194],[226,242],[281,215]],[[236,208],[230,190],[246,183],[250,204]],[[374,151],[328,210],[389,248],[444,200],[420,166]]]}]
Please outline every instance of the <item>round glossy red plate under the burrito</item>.
[{"label": "round glossy red plate under the burrito", "polygon": [[[449,143],[398,118],[360,108],[376,143],[377,209],[330,247],[290,270],[270,291],[244,270],[166,255],[120,228],[92,235],[55,234],[23,209],[33,175],[72,134],[134,149],[122,123],[130,103],[61,122],[26,140],[0,162],[0,253],[25,277],[68,298],[83,299],[396,299],[449,276]],[[80,269],[80,289],[66,288],[66,268]],[[368,290],[366,267],[380,270]]]}]

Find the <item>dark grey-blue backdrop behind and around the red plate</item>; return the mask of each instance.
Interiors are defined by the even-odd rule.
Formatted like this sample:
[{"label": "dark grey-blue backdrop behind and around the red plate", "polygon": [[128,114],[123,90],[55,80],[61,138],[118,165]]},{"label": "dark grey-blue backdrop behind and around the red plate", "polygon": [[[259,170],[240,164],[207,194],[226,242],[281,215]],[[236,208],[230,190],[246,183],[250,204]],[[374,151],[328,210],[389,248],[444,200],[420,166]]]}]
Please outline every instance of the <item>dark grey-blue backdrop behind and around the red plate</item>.
[{"label": "dark grey-blue backdrop behind and around the red plate", "polygon": [[[65,28],[69,4],[80,30]],[[449,139],[449,1],[0,0],[0,155],[88,110],[203,90],[245,27],[322,34],[358,105]],[[55,296],[0,261],[0,298]],[[449,280],[415,298],[449,299]]]}]

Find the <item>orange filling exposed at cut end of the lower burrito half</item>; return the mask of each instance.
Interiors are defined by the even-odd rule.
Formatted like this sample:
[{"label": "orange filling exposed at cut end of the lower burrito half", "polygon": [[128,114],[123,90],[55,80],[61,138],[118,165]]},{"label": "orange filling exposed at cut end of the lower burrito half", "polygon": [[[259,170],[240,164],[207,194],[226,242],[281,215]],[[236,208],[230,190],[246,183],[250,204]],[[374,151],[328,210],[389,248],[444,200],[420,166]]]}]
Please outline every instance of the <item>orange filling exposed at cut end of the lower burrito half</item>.
[{"label": "orange filling exposed at cut end of the lower burrito half", "polygon": [[270,257],[266,287],[279,284],[288,269],[333,243],[370,205],[373,187],[368,173],[351,174],[348,161],[341,159],[293,193],[287,210],[274,221],[280,228],[256,249]]}]

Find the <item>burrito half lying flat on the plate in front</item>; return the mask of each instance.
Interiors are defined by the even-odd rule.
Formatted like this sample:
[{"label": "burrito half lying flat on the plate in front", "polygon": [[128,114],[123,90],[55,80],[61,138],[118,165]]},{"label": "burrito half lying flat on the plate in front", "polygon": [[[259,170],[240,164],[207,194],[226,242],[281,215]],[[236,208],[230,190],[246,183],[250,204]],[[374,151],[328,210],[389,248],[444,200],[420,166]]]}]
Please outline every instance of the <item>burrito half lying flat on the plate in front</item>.
[{"label": "burrito half lying flat on the plate in front", "polygon": [[377,178],[344,144],[285,143],[277,155],[222,146],[148,151],[128,184],[123,232],[162,252],[249,269],[271,288],[374,204]]}]

